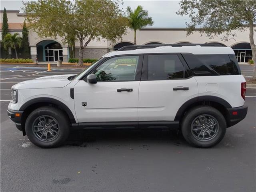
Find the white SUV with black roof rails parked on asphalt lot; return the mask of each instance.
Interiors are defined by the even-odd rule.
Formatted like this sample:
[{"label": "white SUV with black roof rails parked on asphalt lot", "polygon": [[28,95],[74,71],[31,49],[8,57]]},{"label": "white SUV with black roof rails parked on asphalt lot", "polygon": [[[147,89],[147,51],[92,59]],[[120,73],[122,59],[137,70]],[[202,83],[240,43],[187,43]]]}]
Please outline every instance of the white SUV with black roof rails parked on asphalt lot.
[{"label": "white SUV with black roof rails parked on asphalt lot", "polygon": [[59,146],[75,128],[181,130],[190,144],[206,148],[245,118],[245,92],[230,47],[125,46],[80,74],[12,86],[8,116],[43,148]]}]

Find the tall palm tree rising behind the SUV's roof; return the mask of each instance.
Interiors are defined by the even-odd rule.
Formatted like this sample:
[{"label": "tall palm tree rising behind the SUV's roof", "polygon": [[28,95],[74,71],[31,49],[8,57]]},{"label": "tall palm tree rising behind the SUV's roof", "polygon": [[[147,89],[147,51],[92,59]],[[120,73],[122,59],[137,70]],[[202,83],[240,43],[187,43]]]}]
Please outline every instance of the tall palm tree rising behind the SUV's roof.
[{"label": "tall palm tree rising behind the SUV's roof", "polygon": [[147,25],[152,26],[154,21],[148,16],[148,11],[143,10],[142,6],[138,6],[134,11],[130,6],[126,8],[128,13],[129,27],[134,30],[134,45],[136,45],[136,30]]}]

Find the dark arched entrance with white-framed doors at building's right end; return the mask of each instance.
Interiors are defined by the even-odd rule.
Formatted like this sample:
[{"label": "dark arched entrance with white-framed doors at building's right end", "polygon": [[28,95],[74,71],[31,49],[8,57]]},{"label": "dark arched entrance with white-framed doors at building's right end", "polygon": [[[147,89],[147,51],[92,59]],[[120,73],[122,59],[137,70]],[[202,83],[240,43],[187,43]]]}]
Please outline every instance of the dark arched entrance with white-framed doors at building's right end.
[{"label": "dark arched entrance with white-framed doors at building's right end", "polygon": [[252,59],[252,48],[250,43],[238,43],[231,47],[238,62],[248,62]]}]

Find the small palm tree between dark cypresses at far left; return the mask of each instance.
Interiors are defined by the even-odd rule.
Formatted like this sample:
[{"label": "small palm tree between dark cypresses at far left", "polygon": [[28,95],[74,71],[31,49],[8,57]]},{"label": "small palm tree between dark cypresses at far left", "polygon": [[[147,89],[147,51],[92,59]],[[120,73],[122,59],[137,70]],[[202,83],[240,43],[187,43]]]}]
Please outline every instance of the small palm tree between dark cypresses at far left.
[{"label": "small palm tree between dark cypresses at far left", "polygon": [[8,50],[8,48],[14,49],[16,54],[16,59],[18,59],[18,54],[16,48],[21,48],[22,44],[22,38],[20,37],[20,34],[14,33],[13,35],[8,33],[4,37],[3,40],[4,48]]}]

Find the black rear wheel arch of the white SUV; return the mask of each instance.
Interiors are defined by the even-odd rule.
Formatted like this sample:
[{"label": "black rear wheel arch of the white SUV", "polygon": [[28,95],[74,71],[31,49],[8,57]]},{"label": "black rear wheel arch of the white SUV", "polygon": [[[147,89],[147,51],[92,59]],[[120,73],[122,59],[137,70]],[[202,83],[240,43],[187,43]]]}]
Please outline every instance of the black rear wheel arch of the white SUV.
[{"label": "black rear wheel arch of the white SUV", "polygon": [[229,118],[228,110],[227,108],[232,108],[232,106],[224,99],[217,97],[217,96],[199,96],[196,98],[192,98],[188,101],[186,101],[180,108],[178,109],[176,116],[174,118],[175,121],[181,121],[184,114],[190,110],[191,108],[198,106],[198,105],[204,105],[204,106],[212,106],[219,110],[226,121]]}]

